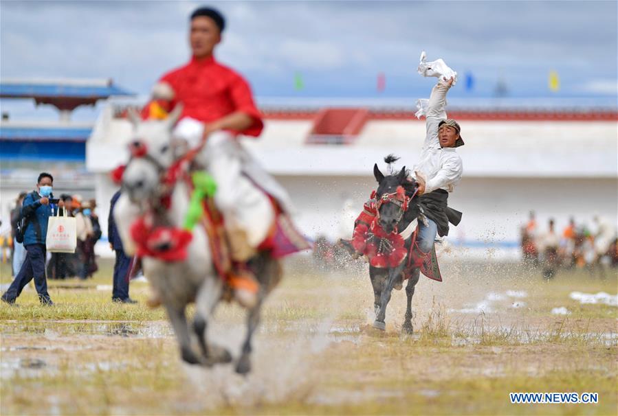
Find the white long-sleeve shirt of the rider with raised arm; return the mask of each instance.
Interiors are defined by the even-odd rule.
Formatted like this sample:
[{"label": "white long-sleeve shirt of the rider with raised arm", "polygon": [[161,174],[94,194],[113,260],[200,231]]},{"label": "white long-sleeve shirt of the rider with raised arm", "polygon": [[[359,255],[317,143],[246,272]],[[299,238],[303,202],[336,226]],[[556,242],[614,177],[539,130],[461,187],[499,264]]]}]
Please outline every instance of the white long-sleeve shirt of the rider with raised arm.
[{"label": "white long-sleeve shirt of the rider with raised arm", "polygon": [[455,148],[443,148],[438,139],[438,124],[446,117],[446,93],[450,87],[438,82],[431,91],[426,113],[426,137],[421,160],[414,167],[415,176],[425,179],[425,193],[436,189],[453,192],[461,181],[463,163]]}]

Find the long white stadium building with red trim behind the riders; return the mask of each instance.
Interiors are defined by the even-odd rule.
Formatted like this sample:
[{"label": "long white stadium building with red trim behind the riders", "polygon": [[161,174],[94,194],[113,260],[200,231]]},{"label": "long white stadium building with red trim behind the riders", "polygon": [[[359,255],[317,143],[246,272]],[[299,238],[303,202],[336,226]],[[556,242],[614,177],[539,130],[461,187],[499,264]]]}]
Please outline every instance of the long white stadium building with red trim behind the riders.
[{"label": "long white stadium building with red trim behind the riders", "polygon": [[[126,100],[111,100],[87,142],[86,167],[96,198],[109,200],[109,172],[128,159],[131,125]],[[448,240],[476,255],[518,255],[519,228],[529,211],[540,229],[555,218],[558,230],[574,216],[615,221],[617,121],[615,108],[484,106],[449,115],[462,126],[461,184],[449,204],[463,211]],[[296,205],[296,222],[309,238],[350,235],[355,215],[375,189],[373,164],[393,153],[400,165],[419,159],[425,136],[415,109],[384,106],[261,105],[265,130],[243,139],[282,183]],[[107,209],[102,206],[101,216]]]}]

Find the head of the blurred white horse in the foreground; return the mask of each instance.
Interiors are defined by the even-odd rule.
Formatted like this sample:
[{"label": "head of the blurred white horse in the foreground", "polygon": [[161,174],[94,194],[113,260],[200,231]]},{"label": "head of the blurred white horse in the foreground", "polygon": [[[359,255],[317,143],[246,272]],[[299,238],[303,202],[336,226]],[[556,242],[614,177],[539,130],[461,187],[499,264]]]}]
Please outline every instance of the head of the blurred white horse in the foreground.
[{"label": "head of the blurred white horse in the foreground", "polygon": [[167,119],[143,122],[135,111],[129,111],[131,160],[122,174],[122,189],[132,203],[144,206],[160,196],[162,175],[175,161],[172,130],[181,113],[177,105]]}]

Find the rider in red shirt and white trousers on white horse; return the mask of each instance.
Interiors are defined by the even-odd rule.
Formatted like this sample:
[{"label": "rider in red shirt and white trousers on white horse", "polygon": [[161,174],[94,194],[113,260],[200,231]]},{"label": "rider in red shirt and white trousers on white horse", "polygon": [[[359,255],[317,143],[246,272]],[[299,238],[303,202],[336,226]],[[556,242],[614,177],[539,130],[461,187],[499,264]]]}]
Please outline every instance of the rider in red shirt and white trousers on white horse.
[{"label": "rider in red shirt and white trousers on white horse", "polygon": [[[191,14],[191,60],[159,80],[142,117],[164,119],[181,105],[181,119],[173,133],[175,154],[205,143],[205,152],[212,155],[203,167],[217,182],[214,203],[225,217],[233,262],[228,284],[236,300],[250,307],[256,302],[258,284],[246,265],[260,252],[270,251],[278,258],[309,247],[290,227],[287,192],[237,139],[238,135],[257,137],[264,124],[247,81],[213,56],[224,29],[225,19],[217,10],[199,8]],[[157,302],[151,299],[150,303]]]}]

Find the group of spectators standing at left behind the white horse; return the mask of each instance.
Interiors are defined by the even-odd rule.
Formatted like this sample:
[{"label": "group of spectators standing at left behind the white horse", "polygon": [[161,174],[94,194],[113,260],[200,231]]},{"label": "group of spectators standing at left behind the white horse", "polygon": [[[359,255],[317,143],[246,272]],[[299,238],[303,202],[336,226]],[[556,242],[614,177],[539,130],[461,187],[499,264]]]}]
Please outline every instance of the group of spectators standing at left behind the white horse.
[{"label": "group of spectators standing at left behind the white horse", "polygon": [[[96,213],[96,200],[82,200],[80,195],[52,194],[54,178],[46,172],[38,176],[36,189],[21,192],[11,209],[10,234],[0,231],[1,259],[10,258],[13,281],[1,300],[14,304],[25,286],[34,279],[41,303],[53,305],[47,293],[47,279],[89,279],[98,270],[94,247],[102,236]],[[136,303],[129,297],[129,279],[139,270],[135,258],[128,257],[111,213],[120,191],[110,201],[108,233],[110,248],[115,252],[112,300]],[[49,253],[46,246],[50,216],[75,218],[76,249],[74,253]],[[1,227],[0,221],[0,227]],[[18,224],[23,232],[18,232]],[[18,234],[20,241],[18,241]],[[6,255],[7,251],[10,255]]]}]

